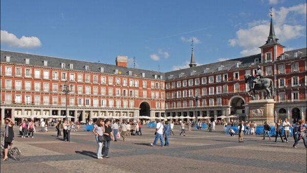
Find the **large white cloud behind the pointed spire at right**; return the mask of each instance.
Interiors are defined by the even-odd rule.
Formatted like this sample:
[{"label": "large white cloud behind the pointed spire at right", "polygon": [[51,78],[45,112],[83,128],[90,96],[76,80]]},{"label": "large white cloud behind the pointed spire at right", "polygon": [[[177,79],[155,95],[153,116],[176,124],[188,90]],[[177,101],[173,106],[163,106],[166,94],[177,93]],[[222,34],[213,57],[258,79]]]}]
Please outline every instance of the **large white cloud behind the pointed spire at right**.
[{"label": "large white cloud behind the pointed spire at right", "polygon": [[[275,15],[275,14],[276,15]],[[289,15],[302,15],[306,21],[306,3],[292,6],[289,8],[281,7],[279,11],[273,11],[274,29],[277,38],[281,41],[287,41],[303,36],[305,27],[303,24],[290,24],[293,18]],[[304,23],[305,23],[304,21]],[[270,31],[269,20],[258,20],[248,24],[247,29],[239,29],[236,32],[236,38],[228,40],[230,46],[241,46],[244,50],[240,54],[247,56],[260,53],[259,46],[265,44]]]}]

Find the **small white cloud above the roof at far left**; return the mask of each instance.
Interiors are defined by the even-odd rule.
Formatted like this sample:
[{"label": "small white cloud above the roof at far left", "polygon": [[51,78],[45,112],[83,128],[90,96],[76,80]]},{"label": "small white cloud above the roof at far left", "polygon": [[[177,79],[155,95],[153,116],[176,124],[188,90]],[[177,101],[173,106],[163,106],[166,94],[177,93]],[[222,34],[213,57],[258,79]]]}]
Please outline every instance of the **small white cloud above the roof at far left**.
[{"label": "small white cloud above the roof at far left", "polygon": [[14,34],[7,31],[0,31],[0,42],[13,47],[21,48],[34,48],[41,46],[40,40],[37,37],[25,37],[17,38]]}]

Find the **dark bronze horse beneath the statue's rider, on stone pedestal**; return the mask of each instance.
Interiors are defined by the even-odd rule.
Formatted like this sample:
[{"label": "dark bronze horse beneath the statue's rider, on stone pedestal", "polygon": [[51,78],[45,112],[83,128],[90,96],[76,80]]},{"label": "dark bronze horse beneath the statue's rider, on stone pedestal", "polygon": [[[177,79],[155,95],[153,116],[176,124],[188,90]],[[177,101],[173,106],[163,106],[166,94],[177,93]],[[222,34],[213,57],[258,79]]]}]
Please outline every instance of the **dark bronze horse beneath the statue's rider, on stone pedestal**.
[{"label": "dark bronze horse beneath the statue's rider, on stone pedestal", "polygon": [[[244,78],[245,78],[245,83],[248,83],[249,88],[251,88],[247,93],[249,96],[253,98],[253,100],[255,100],[255,91],[261,91],[261,90],[267,91],[265,99],[267,99],[268,96],[269,98],[273,98],[274,86],[273,86],[273,81],[271,79],[263,78],[259,80],[257,83],[255,83],[254,88],[252,88],[255,77],[251,75],[245,75]],[[253,91],[253,95],[250,94],[251,91]]]}]

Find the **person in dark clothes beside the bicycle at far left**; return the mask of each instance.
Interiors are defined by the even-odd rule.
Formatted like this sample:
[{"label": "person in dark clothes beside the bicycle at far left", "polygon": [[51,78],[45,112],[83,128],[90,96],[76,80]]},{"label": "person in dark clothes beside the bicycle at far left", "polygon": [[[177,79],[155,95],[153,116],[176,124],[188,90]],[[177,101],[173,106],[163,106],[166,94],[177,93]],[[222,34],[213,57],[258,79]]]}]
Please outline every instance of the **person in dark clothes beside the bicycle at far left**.
[{"label": "person in dark clothes beside the bicycle at far left", "polygon": [[13,126],[15,122],[11,120],[11,118],[5,118],[5,138],[4,138],[4,158],[3,161],[8,160],[8,146],[13,144],[12,141],[14,140],[14,131]]}]

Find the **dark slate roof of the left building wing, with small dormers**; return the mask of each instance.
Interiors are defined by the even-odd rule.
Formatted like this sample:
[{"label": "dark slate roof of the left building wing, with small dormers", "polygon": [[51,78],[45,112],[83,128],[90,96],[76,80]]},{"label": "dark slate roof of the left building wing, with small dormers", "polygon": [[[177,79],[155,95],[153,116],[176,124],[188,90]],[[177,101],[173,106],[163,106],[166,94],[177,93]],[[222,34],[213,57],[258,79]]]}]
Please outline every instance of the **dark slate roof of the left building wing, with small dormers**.
[{"label": "dark slate roof of the left building wing, with small dormers", "polygon": [[142,77],[142,73],[145,73],[145,78],[147,79],[155,79],[155,75],[157,78],[160,79],[162,76],[162,80],[165,80],[165,73],[158,72],[153,70],[144,70],[144,69],[137,69],[137,68],[130,68],[130,67],[122,67],[117,65],[111,64],[103,64],[98,62],[87,62],[87,61],[80,61],[80,60],[71,60],[71,59],[64,59],[64,58],[56,58],[56,57],[48,57],[48,56],[41,56],[41,55],[33,55],[33,54],[25,54],[25,53],[17,53],[17,52],[10,52],[10,51],[3,51],[1,50],[0,60],[5,62],[5,56],[11,57],[10,62],[13,63],[20,63],[25,64],[25,59],[30,59],[30,65],[38,65],[43,66],[43,61],[48,61],[48,67],[55,67],[61,68],[61,63],[65,63],[65,69],[69,69],[69,64],[73,64],[74,70],[82,70],[85,71],[85,65],[89,66],[90,72],[100,72],[100,67],[104,68],[104,73],[114,74],[115,69],[121,71],[121,75],[128,76],[128,71],[132,72],[132,76]]}]

